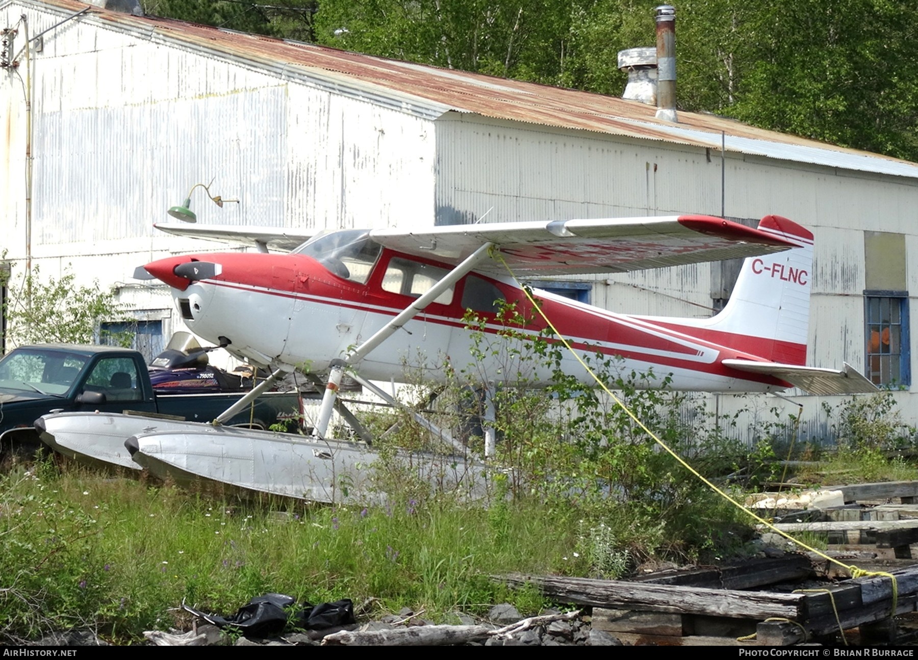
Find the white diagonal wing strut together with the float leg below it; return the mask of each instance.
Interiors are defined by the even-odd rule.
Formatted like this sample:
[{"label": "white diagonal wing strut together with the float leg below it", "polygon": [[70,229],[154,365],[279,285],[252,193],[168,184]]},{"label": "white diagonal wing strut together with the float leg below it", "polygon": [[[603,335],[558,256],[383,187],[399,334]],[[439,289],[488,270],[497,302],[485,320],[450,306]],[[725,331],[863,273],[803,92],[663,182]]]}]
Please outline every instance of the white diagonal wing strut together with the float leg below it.
[{"label": "white diagonal wing strut together with the float leg below it", "polygon": [[424,310],[428,305],[430,305],[434,300],[436,300],[440,295],[448,289],[450,286],[454,285],[460,279],[462,279],[465,274],[468,274],[476,264],[482,261],[487,257],[488,251],[494,243],[486,242],[481,247],[479,247],[475,252],[472,252],[469,256],[465,258],[463,263],[460,263],[452,271],[446,274],[445,277],[440,280],[437,284],[431,286],[431,289],[425,293],[423,296],[420,296],[415,300],[409,307],[398,312],[394,319],[389,321],[388,325],[383,328],[380,328],[376,333],[370,337],[370,339],[364,341],[360,346],[354,348],[351,352],[348,352],[342,360],[332,360],[330,364],[329,372],[329,383],[325,386],[325,394],[322,396],[322,405],[319,408],[319,419],[316,420],[316,428],[313,431],[313,435],[317,438],[325,438],[326,431],[329,430],[329,421],[331,419],[331,410],[334,408],[335,397],[338,396],[338,389],[341,387],[341,378],[344,376],[344,367],[349,364],[357,364],[364,359],[370,352],[372,352],[379,344],[383,341],[386,341],[391,337],[395,332],[404,326],[409,320],[413,319],[418,313]]}]

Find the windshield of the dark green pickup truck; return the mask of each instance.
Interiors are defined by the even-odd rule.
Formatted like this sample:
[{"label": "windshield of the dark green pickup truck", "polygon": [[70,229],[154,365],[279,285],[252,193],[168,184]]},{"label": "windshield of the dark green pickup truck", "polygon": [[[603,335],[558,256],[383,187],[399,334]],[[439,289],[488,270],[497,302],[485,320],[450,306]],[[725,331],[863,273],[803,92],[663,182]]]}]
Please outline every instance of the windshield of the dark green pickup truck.
[{"label": "windshield of the dark green pickup truck", "polygon": [[0,360],[0,389],[63,395],[86,360],[66,351],[17,349]]}]

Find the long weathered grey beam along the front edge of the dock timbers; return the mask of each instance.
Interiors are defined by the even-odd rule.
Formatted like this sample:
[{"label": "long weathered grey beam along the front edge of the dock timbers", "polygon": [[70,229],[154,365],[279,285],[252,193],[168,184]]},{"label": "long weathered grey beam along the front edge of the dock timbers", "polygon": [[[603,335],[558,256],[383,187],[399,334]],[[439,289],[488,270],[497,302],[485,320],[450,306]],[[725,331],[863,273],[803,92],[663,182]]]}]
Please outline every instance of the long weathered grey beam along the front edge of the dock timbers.
[{"label": "long weathered grey beam along the front edge of the dock timbers", "polygon": [[679,587],[586,577],[493,576],[509,585],[532,584],[559,602],[592,607],[654,610],[742,619],[800,620],[803,596],[735,589]]}]

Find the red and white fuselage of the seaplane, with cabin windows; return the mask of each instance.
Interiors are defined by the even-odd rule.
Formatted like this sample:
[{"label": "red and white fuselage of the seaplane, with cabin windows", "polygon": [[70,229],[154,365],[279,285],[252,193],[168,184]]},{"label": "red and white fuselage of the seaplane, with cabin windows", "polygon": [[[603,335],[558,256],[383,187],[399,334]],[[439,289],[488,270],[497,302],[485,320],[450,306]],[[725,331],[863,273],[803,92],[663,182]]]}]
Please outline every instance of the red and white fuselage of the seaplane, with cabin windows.
[{"label": "red and white fuselage of the seaplane, with cabin windows", "polygon": [[[217,263],[218,274],[194,280],[174,274],[177,265],[194,261]],[[229,341],[230,352],[255,364],[323,371],[385,327],[451,266],[339,239],[289,254],[205,253],[146,268],[172,286],[176,306],[196,335]],[[607,377],[634,374],[643,386],[681,390],[761,392],[789,386],[721,364],[728,358],[762,360],[752,352],[751,338],[723,337],[718,343],[711,333],[693,336],[678,319],[652,322],[539,290],[534,296],[579,355],[593,365],[609,361]],[[555,337],[547,341],[560,349],[559,364],[532,354],[532,339],[545,328],[513,280],[468,274],[353,367],[372,380],[404,382],[421,374],[442,382],[453,373],[470,381],[542,386],[560,366],[594,385]]]}]

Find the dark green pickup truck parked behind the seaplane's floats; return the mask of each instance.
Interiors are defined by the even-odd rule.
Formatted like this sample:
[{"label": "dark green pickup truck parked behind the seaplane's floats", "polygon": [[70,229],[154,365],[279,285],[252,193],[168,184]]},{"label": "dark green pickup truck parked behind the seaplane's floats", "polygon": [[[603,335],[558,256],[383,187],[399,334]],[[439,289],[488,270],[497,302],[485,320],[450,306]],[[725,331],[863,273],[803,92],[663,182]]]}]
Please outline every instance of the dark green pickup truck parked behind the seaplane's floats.
[{"label": "dark green pickup truck parked behind the seaplane's floats", "polygon": [[[53,411],[172,415],[210,421],[243,392],[157,395],[140,352],[113,346],[21,346],[0,360],[0,451],[40,445],[33,424]],[[267,429],[300,419],[297,392],[268,392],[229,419],[227,426]]]}]

